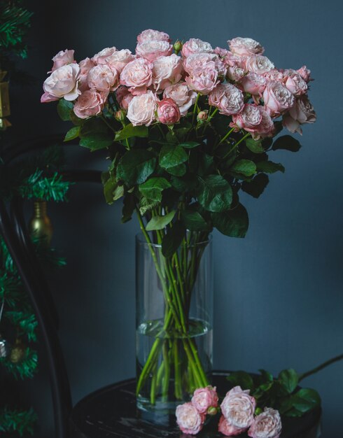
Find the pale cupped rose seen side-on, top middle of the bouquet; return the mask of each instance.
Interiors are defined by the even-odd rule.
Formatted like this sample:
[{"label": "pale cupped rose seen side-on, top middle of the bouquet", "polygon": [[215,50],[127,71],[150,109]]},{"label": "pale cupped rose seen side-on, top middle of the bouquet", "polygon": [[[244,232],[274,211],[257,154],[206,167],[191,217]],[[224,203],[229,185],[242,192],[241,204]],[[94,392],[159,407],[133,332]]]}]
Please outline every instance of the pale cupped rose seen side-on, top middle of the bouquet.
[{"label": "pale cupped rose seen side-on, top middle of the bouquet", "polygon": [[156,91],[179,82],[182,76],[181,57],[173,53],[170,56],[160,56],[153,62],[153,84]]}]

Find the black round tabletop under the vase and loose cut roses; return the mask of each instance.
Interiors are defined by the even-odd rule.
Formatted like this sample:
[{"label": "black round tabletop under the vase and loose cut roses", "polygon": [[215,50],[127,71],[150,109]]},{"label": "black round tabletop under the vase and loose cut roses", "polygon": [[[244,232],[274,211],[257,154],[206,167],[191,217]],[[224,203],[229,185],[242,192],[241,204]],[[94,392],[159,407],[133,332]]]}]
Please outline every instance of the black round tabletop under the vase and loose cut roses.
[{"label": "black round tabletop under the vase and loose cut roses", "polygon": [[[221,388],[223,395],[230,389],[225,379],[228,372],[213,372],[212,384]],[[175,416],[161,418],[160,424],[142,418],[136,407],[134,379],[106,386],[87,395],[76,404],[71,414],[72,438],[186,438],[175,423]],[[281,438],[317,438],[320,436],[319,410],[302,418],[284,418]],[[204,425],[199,438],[222,437],[218,432],[218,418]],[[239,437],[248,437],[246,434]]]}]

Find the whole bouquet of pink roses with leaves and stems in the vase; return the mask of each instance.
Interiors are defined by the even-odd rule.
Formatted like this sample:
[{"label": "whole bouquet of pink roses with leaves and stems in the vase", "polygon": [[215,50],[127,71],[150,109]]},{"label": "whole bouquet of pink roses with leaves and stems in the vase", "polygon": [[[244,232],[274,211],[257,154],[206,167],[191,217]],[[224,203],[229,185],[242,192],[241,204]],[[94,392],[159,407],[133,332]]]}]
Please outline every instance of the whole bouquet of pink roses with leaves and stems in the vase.
[{"label": "whole bouquet of pink roses with leaves and stems in the vase", "polygon": [[153,343],[139,363],[137,396],[151,405],[209,384],[190,334],[200,243],[214,228],[244,237],[239,192],[259,197],[268,174],[284,171],[269,153],[300,148],[289,135],[273,141],[283,127],[301,133],[316,120],[310,71],[276,69],[263,52],[251,38],[214,49],[197,38],[172,45],[165,32],[148,29],[135,54],[111,47],[76,62],[73,50],[57,53],[43,84],[41,101],[58,101],[62,120],[73,122],[65,140],[107,150],[106,202],[122,198],[123,222],[137,213],[148,243],[165,302],[164,317],[149,322]]}]

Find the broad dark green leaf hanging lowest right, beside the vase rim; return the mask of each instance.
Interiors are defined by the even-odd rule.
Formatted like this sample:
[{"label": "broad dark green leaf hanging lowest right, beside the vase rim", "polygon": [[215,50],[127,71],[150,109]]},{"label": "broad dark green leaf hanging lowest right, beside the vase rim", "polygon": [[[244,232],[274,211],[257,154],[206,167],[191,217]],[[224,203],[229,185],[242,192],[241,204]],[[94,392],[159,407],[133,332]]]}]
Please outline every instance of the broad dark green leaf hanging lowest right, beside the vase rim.
[{"label": "broad dark green leaf hanging lowest right, beside the vase rim", "polygon": [[244,237],[248,230],[248,213],[241,204],[229,211],[212,213],[212,220],[214,227],[225,236]]}]

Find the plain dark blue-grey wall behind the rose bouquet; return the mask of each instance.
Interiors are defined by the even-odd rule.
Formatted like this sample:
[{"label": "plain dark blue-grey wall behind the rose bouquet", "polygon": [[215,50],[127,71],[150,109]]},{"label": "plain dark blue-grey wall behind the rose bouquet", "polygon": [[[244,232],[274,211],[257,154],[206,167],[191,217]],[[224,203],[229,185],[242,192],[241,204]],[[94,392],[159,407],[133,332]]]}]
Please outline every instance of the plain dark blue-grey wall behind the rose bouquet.
[{"label": "plain dark blue-grey wall behind the rose bouquet", "polygon": [[[29,58],[18,62],[35,78],[11,87],[11,138],[66,132],[55,104],[40,104],[50,59],[73,48],[79,61],[116,45],[134,51],[152,28],[175,40],[226,46],[250,36],[281,68],[306,64],[315,78],[309,98],[318,120],[304,126],[298,153],[276,151],[286,167],[260,199],[242,198],[251,225],[245,239],[214,233],[214,367],[274,374],[311,369],[343,350],[342,294],[342,18],[340,1],[27,1],[34,11]],[[74,167],[106,169],[104,153],[66,146]],[[28,207],[29,208],[29,207]],[[51,283],[73,402],[101,386],[134,376],[134,234],[120,224],[121,205],[107,206],[102,188],[73,187],[69,203],[50,206],[54,245],[66,269]],[[45,358],[26,383],[40,416],[37,437],[52,436]],[[342,433],[343,364],[303,382],[323,400],[323,438]]]}]

